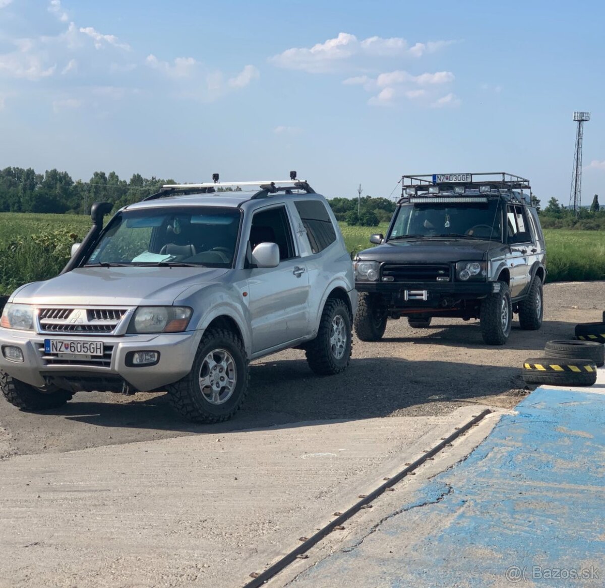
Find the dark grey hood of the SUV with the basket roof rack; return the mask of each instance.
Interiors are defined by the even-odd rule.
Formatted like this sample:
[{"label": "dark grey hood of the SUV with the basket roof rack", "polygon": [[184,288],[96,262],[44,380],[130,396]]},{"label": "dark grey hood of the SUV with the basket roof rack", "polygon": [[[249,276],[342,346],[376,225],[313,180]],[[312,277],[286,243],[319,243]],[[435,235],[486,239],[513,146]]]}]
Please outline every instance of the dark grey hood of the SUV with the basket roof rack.
[{"label": "dark grey hood of the SUV with the basket roof rack", "polygon": [[378,247],[365,249],[357,259],[379,262],[425,262],[449,263],[462,260],[481,260],[490,249],[505,247],[494,241],[471,241],[469,239],[410,239],[390,241]]}]

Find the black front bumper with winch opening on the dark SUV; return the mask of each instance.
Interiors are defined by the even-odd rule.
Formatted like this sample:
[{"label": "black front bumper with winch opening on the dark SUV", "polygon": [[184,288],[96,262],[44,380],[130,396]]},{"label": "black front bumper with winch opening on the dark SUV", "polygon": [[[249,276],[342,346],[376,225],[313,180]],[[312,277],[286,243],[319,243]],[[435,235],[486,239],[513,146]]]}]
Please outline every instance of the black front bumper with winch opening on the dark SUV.
[{"label": "black front bumper with winch opening on the dark SUV", "polygon": [[[445,299],[478,300],[500,289],[499,282],[355,282],[358,292],[382,294],[393,306],[438,308]],[[405,291],[427,292],[427,300],[405,300]]]}]

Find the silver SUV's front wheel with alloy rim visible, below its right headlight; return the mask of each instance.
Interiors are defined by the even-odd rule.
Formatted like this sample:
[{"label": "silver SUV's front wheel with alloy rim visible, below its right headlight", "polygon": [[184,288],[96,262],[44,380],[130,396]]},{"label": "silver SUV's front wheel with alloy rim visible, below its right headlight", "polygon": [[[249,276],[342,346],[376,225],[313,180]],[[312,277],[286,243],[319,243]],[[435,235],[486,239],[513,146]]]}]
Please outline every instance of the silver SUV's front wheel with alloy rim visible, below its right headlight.
[{"label": "silver SUV's front wheel with alloy rim visible, below its right headlight", "polygon": [[226,329],[208,329],[191,372],[168,386],[168,399],[189,421],[226,421],[244,401],[248,380],[248,360],[240,338]]}]

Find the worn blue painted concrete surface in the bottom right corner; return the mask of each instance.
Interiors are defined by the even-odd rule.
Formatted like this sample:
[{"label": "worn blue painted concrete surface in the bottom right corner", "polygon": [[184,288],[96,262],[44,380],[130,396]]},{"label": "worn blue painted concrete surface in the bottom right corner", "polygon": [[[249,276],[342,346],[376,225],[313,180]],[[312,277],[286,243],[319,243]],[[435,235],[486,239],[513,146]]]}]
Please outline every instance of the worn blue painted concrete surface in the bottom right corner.
[{"label": "worn blue painted concrete surface in the bottom right corner", "polygon": [[[516,410],[294,585],[605,586],[605,395],[538,389]],[[507,578],[511,566],[521,577]]]}]

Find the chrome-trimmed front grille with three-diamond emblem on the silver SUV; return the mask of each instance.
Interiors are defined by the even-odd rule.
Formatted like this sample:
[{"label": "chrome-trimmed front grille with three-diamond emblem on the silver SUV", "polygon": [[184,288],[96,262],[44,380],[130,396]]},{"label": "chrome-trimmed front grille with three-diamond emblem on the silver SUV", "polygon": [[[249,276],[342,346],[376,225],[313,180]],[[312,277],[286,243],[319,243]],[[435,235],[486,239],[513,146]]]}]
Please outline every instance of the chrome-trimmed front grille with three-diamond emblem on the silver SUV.
[{"label": "chrome-trimmed front grille with three-diamond emblem on the silver SUV", "polygon": [[43,333],[110,334],[126,314],[125,308],[39,308]]}]

